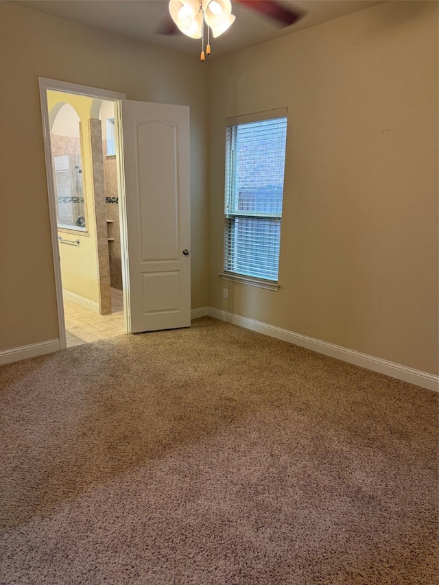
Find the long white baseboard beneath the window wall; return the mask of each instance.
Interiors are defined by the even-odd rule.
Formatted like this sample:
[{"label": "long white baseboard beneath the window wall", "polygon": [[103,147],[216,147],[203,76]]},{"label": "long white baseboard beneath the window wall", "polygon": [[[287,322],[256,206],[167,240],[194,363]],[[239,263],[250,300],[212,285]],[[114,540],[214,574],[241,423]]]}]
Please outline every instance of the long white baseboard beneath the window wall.
[{"label": "long white baseboard beneath the window wall", "polygon": [[344,348],[342,346],[323,342],[320,339],[314,339],[313,337],[307,337],[307,335],[294,333],[294,331],[288,331],[287,329],[281,329],[280,327],[268,325],[261,321],[241,317],[241,315],[235,315],[234,313],[228,313],[228,311],[222,311],[222,309],[213,309],[209,307],[208,314],[210,317],[227,321],[234,325],[239,325],[245,329],[251,329],[252,331],[257,331],[264,335],[270,335],[270,337],[282,339],[284,342],[289,342],[322,353],[323,355],[329,355],[329,357],[335,357],[335,359],[341,359],[342,361],[353,363],[355,366],[361,366],[361,368],[373,370],[374,372],[386,374],[392,378],[427,388],[427,390],[439,392],[439,376],[435,376],[434,374],[428,374],[427,372],[407,368],[407,366],[401,366],[399,363],[387,361],[379,357],[373,357],[366,353],[359,353],[358,351]]}]

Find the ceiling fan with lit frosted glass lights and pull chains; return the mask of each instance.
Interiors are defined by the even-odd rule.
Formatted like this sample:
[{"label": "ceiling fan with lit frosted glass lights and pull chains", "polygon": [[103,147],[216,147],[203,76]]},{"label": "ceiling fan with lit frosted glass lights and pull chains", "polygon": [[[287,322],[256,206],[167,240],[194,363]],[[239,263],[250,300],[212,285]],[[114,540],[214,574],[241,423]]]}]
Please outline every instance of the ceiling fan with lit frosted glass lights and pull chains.
[{"label": "ceiling fan with lit frosted glass lights and pull chains", "polygon": [[[276,0],[233,0],[246,8],[259,12],[279,27],[296,23],[304,13],[285,8]],[[210,34],[214,37],[225,32],[235,21],[230,0],[169,0],[169,16],[157,30],[158,34],[173,35],[182,32],[191,38],[202,39],[200,58],[211,53]],[[207,44],[204,52],[204,29]]]}]

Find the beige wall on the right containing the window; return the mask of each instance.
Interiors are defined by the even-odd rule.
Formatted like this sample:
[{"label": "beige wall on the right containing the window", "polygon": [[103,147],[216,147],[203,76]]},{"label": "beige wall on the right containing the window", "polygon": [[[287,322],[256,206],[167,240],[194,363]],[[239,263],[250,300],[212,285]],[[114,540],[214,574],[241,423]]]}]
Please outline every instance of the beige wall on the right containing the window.
[{"label": "beige wall on the right containing the window", "polygon": [[[437,8],[383,3],[210,64],[212,307],[438,372]],[[224,121],[283,106],[274,292],[217,276]]]}]

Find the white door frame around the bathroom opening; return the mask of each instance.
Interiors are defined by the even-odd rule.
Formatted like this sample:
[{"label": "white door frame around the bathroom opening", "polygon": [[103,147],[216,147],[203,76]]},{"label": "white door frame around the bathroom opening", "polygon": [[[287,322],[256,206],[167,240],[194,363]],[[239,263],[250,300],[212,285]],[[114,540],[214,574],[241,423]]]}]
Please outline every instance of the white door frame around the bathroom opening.
[{"label": "white door frame around the bathroom opening", "polygon": [[115,102],[115,121],[117,123],[117,149],[119,156],[118,160],[118,191],[119,191],[119,209],[121,211],[121,257],[122,257],[122,280],[123,280],[123,302],[124,302],[124,315],[125,315],[125,327],[127,333],[128,330],[128,314],[130,311],[129,307],[129,296],[126,294],[126,283],[128,282],[128,249],[126,245],[126,208],[125,208],[125,193],[123,190],[123,175],[121,174],[121,163],[123,157],[121,156],[121,141],[120,141],[120,102],[121,99],[126,99],[125,93],[118,91],[110,91],[106,89],[100,89],[96,87],[89,87],[86,85],[78,85],[74,83],[51,80],[47,77],[38,77],[40,85],[40,104],[41,104],[41,117],[43,120],[43,139],[44,139],[44,150],[46,160],[46,177],[47,177],[47,195],[49,199],[49,216],[50,216],[50,232],[52,240],[52,252],[54,259],[54,274],[55,274],[55,286],[56,286],[56,303],[58,307],[58,326],[60,330],[60,348],[67,348],[66,342],[66,327],[64,322],[64,302],[62,300],[62,280],[61,280],[61,266],[60,266],[60,250],[58,243],[58,222],[56,219],[56,206],[55,206],[55,186],[54,176],[51,168],[51,144],[50,144],[50,121],[49,121],[49,110],[47,108],[47,90],[51,89],[54,91],[65,91],[67,93],[75,93],[80,95],[86,95],[88,97],[97,97],[106,99],[110,102]]}]

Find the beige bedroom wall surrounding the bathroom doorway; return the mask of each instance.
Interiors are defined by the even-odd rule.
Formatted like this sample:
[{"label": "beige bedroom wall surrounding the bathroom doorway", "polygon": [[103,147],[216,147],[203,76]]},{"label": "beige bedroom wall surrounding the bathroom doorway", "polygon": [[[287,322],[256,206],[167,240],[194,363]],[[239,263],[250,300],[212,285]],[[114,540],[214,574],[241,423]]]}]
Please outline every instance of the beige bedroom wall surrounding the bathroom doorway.
[{"label": "beige bedroom wall surrounding the bathroom doorway", "polygon": [[192,303],[206,306],[206,69],[196,56],[0,2],[0,350],[59,336],[38,76],[191,106]]}]

